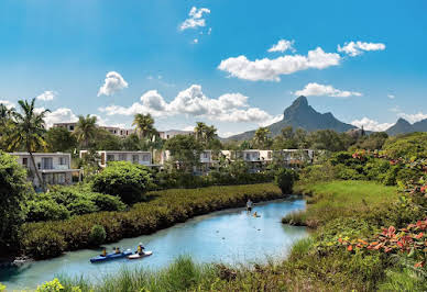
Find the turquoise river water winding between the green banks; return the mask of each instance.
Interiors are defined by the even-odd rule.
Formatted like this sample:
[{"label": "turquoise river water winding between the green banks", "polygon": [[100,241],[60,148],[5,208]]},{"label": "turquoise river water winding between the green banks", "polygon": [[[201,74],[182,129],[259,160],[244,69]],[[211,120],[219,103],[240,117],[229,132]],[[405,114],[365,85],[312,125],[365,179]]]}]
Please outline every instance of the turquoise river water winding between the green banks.
[{"label": "turquoise river water winding between the green banks", "polygon": [[248,215],[243,209],[220,211],[152,235],[125,238],[106,245],[108,250],[113,246],[135,249],[139,243],[143,243],[146,250],[153,251],[153,256],[141,260],[118,259],[94,265],[89,262],[89,258],[100,254],[100,250],[83,249],[58,258],[0,270],[0,282],[8,287],[8,291],[12,291],[34,289],[59,273],[83,274],[96,281],[124,265],[158,269],[179,255],[189,255],[199,262],[222,261],[231,265],[281,259],[296,240],[307,236],[304,227],[283,225],[281,218],[304,207],[303,200],[280,200],[255,205],[254,211],[261,217]]}]

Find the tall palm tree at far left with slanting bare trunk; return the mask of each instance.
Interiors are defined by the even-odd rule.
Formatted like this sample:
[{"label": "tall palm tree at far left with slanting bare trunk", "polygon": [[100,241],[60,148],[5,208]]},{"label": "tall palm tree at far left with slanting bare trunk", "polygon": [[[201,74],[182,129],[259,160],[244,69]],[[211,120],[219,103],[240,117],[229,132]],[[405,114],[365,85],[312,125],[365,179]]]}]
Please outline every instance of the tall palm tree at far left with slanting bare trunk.
[{"label": "tall palm tree at far left with slanting bare trunk", "polygon": [[31,102],[20,100],[18,103],[22,113],[12,112],[12,126],[13,131],[8,137],[8,148],[10,150],[25,148],[30,154],[30,159],[33,165],[35,175],[37,176],[39,182],[43,186],[42,178],[40,176],[39,169],[35,166],[33,153],[39,149],[45,149],[47,146],[46,141],[44,139],[45,128],[45,115],[51,112],[50,110],[43,110],[39,112],[34,108],[35,99],[32,99]]}]

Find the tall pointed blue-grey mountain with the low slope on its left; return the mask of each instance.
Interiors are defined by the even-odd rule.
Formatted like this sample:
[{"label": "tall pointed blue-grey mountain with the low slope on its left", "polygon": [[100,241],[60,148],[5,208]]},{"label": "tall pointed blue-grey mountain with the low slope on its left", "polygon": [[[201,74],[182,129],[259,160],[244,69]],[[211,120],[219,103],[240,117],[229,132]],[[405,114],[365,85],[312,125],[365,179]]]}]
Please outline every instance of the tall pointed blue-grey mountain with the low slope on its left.
[{"label": "tall pointed blue-grey mountain with the low slope on its left", "polygon": [[[289,108],[284,111],[283,120],[267,126],[272,136],[281,134],[282,128],[292,126],[294,128],[304,128],[306,131],[317,130],[335,130],[337,132],[347,132],[355,126],[346,124],[337,120],[332,113],[319,113],[313,109],[307,101],[306,97],[297,98]],[[242,134],[238,134],[228,137],[228,141],[244,141],[251,139],[255,131],[248,131]]]}]

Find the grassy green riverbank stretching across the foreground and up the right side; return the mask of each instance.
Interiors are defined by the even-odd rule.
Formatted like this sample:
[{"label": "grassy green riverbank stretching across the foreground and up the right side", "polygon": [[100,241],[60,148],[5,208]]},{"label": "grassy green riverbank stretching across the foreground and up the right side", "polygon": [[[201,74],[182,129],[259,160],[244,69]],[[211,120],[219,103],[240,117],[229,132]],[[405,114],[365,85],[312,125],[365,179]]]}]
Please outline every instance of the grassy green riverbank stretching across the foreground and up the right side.
[{"label": "grassy green riverbank stretching across the foreground and up the right side", "polygon": [[[296,186],[309,194],[305,220],[316,220],[315,233],[298,242],[281,262],[231,268],[177,259],[168,268],[121,271],[101,284],[84,279],[64,281],[66,291],[425,291],[425,268],[417,272],[410,257],[340,243],[373,236],[382,226],[402,226],[423,216],[399,201],[397,189],[366,181],[329,181]],[[340,212],[341,211],[341,212]],[[330,214],[329,214],[330,212]],[[425,213],[424,213],[425,214]],[[307,224],[308,225],[308,224]],[[183,279],[178,281],[177,279]]]}]

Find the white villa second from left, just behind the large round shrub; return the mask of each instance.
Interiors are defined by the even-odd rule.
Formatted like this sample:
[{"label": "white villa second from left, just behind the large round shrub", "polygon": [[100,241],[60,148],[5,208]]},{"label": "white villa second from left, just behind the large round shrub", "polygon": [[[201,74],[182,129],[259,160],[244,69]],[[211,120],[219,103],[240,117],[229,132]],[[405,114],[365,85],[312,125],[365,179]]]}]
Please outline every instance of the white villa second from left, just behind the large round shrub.
[{"label": "white villa second from left, just behind the large round shrub", "polygon": [[[80,150],[80,158],[87,154],[88,150]],[[142,166],[153,167],[152,155],[150,151],[110,151],[99,150],[99,166],[105,168],[109,161],[130,161]]]}]

